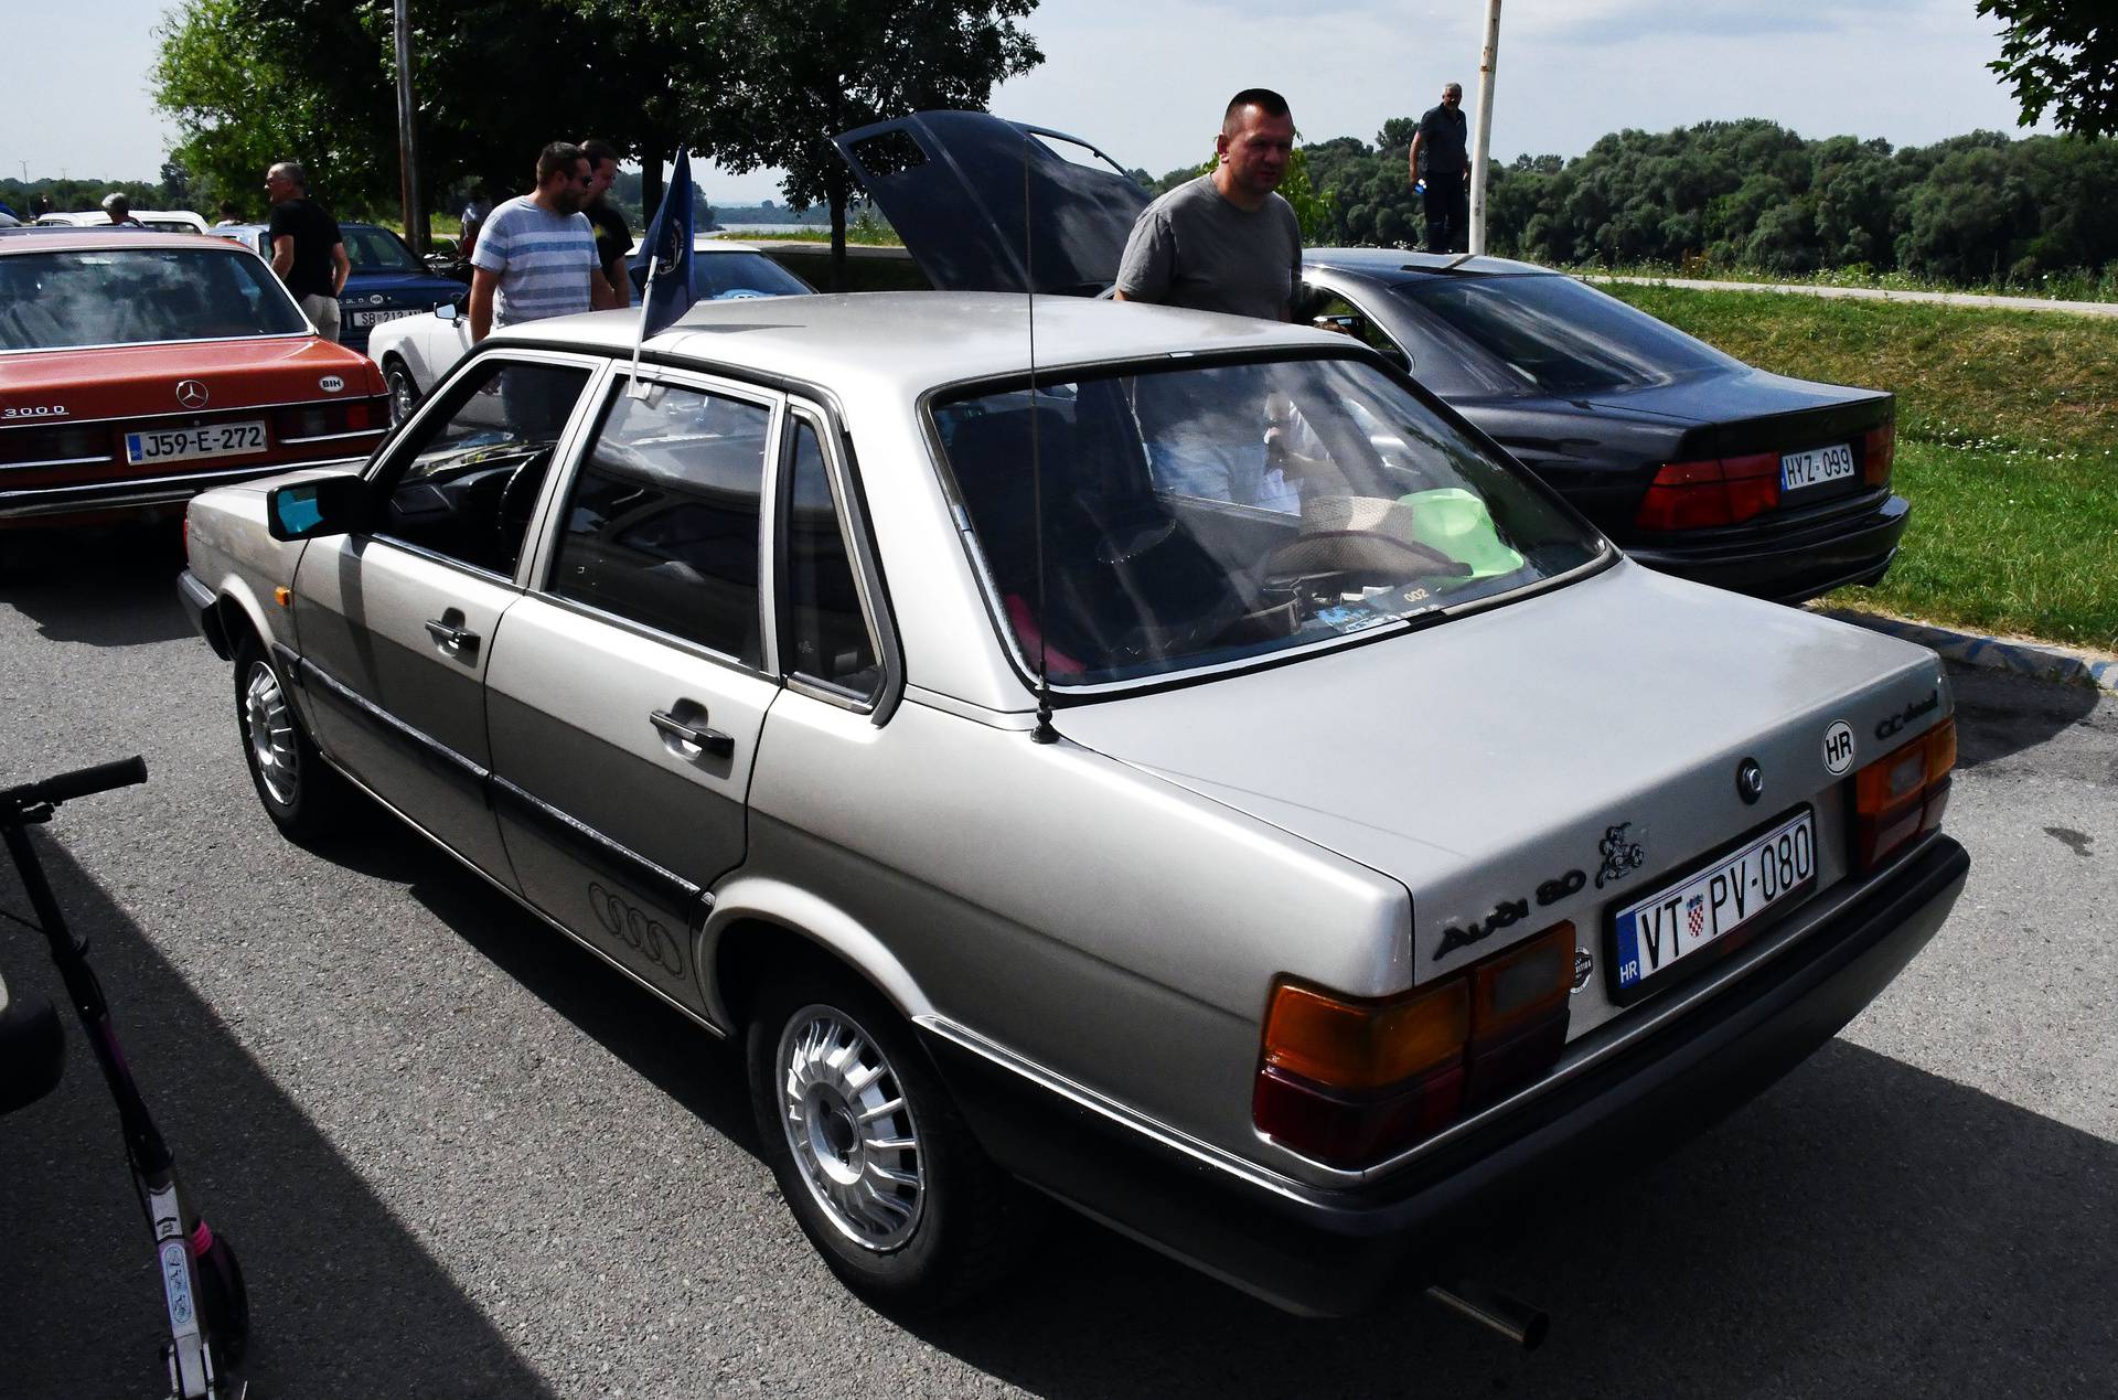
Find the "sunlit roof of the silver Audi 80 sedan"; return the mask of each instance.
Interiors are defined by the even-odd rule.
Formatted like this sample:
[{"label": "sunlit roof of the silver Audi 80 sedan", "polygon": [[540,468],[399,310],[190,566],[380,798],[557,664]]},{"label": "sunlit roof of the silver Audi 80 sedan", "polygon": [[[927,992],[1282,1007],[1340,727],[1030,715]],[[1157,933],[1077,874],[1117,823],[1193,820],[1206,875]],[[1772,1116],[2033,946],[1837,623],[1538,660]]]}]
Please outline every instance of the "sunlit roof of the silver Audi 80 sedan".
[{"label": "sunlit roof of the silver Audi 80 sedan", "polygon": [[[625,354],[638,311],[589,311],[508,326],[493,341]],[[1029,366],[1029,307],[1008,292],[839,292],[701,301],[648,341],[669,356],[826,385],[898,394],[1019,375]],[[1360,354],[1343,335],[1284,322],[1084,297],[1036,299],[1038,366],[1152,360],[1269,347]]]}]

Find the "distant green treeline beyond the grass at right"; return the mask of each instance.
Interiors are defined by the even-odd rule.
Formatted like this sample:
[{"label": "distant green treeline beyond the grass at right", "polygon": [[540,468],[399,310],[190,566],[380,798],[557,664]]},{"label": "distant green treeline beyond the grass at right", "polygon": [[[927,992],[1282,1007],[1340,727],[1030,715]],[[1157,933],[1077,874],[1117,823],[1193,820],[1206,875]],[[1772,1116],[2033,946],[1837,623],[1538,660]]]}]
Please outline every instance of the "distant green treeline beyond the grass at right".
[{"label": "distant green treeline beyond the grass at right", "polygon": [[[1311,244],[1417,246],[1413,119],[1375,144],[1305,146],[1322,197]],[[1195,169],[1175,169],[1167,189]],[[2118,142],[1972,131],[1891,150],[1802,140],[1771,121],[1618,131],[1572,161],[1516,157],[1489,180],[1487,248],[1531,263],[1902,271],[2035,284],[2118,263]]]}]

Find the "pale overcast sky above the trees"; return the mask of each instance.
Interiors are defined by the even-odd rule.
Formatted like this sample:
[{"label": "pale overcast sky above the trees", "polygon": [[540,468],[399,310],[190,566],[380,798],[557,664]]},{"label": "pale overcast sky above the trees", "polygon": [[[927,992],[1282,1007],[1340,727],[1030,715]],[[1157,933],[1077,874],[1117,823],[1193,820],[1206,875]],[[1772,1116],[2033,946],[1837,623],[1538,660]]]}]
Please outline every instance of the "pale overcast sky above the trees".
[{"label": "pale overcast sky above the trees", "polygon": [[[6,0],[0,172],[152,180],[169,146],[146,85],[165,8]],[[1044,64],[1004,85],[993,110],[1152,174],[1205,159],[1228,95],[1252,85],[1288,95],[1305,140],[1375,140],[1385,119],[1432,106],[1449,78],[1464,83],[1466,108],[1476,102],[1483,21],[1476,0],[1313,0],[1307,13],[1264,0],[1044,0],[1029,17]],[[1493,155],[1574,157],[1620,127],[1733,116],[1898,146],[2014,131],[2014,102],[1985,68],[1999,55],[1995,30],[1974,0],[1508,0]],[[714,203],[779,195],[767,174],[699,174]]]}]

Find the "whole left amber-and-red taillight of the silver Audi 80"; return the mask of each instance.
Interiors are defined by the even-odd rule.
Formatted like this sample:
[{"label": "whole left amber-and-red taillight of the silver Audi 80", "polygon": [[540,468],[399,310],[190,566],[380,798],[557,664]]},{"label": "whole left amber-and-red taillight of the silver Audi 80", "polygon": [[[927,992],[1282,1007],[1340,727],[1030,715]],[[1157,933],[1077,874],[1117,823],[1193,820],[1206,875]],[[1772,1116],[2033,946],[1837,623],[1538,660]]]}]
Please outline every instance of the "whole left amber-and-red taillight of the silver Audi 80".
[{"label": "whole left amber-and-red taillight of the silver Audi 80", "polygon": [[1279,983],[1264,1015],[1252,1118],[1267,1137],[1362,1167],[1432,1137],[1559,1059],[1574,926],[1396,998]]}]

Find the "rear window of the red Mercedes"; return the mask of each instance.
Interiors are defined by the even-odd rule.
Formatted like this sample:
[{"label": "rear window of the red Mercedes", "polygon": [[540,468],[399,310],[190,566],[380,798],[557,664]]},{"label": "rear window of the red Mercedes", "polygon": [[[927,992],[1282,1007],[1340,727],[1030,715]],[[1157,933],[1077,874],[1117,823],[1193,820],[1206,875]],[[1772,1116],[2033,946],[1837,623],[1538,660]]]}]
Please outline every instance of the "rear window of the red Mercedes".
[{"label": "rear window of the red Mercedes", "polygon": [[0,256],[0,349],[305,335],[248,252],[112,248]]}]

